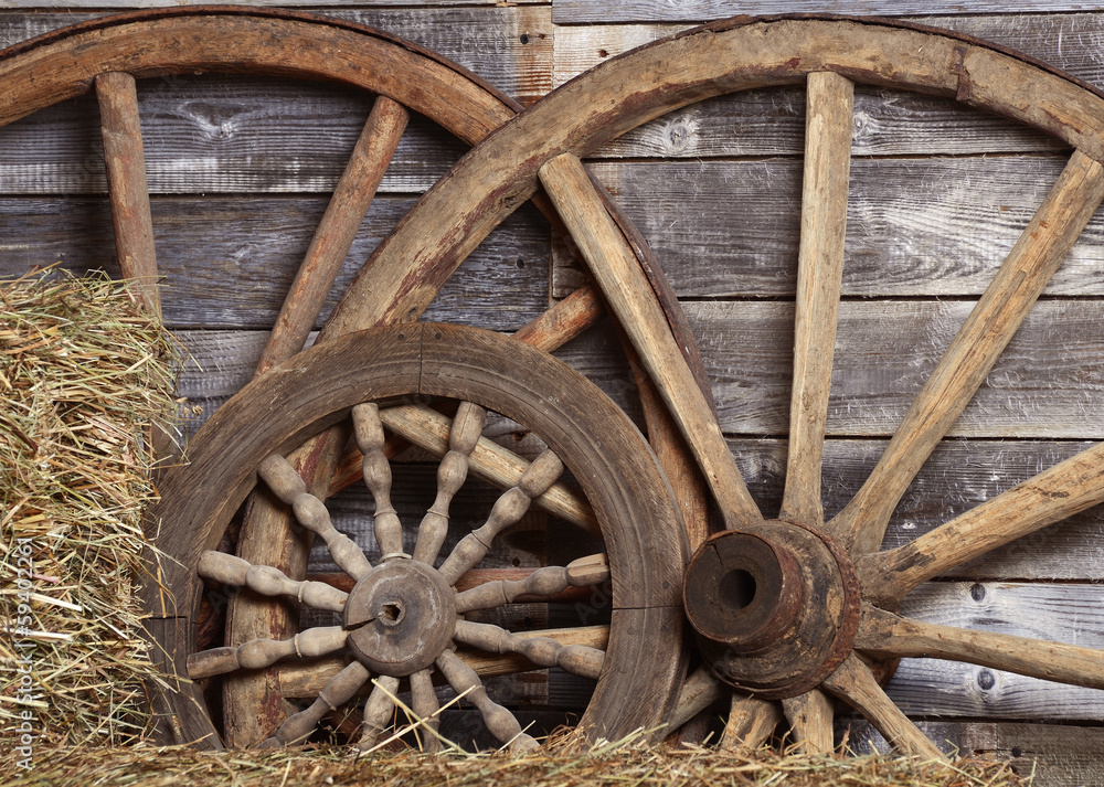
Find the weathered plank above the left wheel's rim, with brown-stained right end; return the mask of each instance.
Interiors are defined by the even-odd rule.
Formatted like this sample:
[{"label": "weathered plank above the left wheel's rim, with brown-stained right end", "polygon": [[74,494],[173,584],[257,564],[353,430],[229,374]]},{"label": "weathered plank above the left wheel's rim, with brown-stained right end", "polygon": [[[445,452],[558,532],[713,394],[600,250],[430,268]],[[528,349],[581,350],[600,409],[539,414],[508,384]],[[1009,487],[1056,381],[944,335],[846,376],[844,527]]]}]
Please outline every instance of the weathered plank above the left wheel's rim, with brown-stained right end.
[{"label": "weathered plank above the left wheel's rim, with brown-stained right end", "polygon": [[[145,0],[134,3],[150,4]],[[13,3],[4,6],[11,8]],[[52,6],[56,8],[56,3]],[[523,104],[552,89],[552,20],[546,6],[501,7],[488,2],[481,8],[448,8],[442,3],[437,8],[329,8],[323,13],[421,44],[456,61]],[[0,47],[102,15],[103,12],[0,11]]]}]

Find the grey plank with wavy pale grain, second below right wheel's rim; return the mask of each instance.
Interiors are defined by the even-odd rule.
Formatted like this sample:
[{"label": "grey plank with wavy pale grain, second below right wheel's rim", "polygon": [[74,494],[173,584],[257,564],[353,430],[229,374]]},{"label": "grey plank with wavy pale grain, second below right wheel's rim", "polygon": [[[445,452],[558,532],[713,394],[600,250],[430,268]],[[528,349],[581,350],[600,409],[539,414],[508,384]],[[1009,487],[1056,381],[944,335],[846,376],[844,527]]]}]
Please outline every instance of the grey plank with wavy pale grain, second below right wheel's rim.
[{"label": "grey plank with wavy pale grain, second below right wheel's rim", "polygon": [[[843,296],[979,295],[1063,166],[1049,156],[853,161]],[[793,297],[799,161],[599,162],[591,171],[640,227],[679,297]],[[1104,214],[1044,293],[1104,294],[1102,259]],[[583,280],[575,270],[555,254],[558,297]]]}]

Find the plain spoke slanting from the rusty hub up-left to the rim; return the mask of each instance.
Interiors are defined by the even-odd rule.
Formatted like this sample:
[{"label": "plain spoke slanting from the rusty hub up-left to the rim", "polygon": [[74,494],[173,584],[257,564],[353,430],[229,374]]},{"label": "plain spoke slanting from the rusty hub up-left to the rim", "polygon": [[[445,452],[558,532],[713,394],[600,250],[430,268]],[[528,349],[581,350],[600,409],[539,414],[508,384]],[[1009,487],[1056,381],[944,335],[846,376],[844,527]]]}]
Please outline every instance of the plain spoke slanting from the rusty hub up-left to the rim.
[{"label": "plain spoke slanting from the rusty hub up-left to the rim", "polygon": [[541,167],[540,180],[678,421],[725,523],[733,528],[761,521],[721,427],[671,336],[667,316],[583,162],[571,153],[558,156]]}]

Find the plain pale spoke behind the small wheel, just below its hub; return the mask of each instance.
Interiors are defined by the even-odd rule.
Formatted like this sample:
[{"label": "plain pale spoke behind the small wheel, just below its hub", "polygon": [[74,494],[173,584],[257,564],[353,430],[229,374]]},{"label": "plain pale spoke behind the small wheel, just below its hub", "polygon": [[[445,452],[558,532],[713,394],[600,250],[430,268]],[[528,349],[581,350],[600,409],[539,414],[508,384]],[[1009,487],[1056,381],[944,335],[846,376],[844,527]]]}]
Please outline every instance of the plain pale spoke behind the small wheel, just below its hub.
[{"label": "plain pale spoke behind the small wheel, just below its hub", "polygon": [[[608,626],[582,626],[578,628],[550,628],[537,631],[518,631],[521,638],[546,637],[561,645],[582,645],[588,648],[605,650],[609,641]],[[541,669],[529,659],[517,653],[496,655],[486,651],[461,648],[456,655],[468,664],[477,676],[496,678],[505,674],[516,674]],[[279,664],[278,684],[284,696],[301,699],[314,696],[326,682],[336,676],[344,666],[341,657],[328,657],[309,666],[295,661]],[[683,692],[684,693],[684,692]],[[715,699],[715,698],[714,698]],[[712,702],[712,700],[710,700]]]}]

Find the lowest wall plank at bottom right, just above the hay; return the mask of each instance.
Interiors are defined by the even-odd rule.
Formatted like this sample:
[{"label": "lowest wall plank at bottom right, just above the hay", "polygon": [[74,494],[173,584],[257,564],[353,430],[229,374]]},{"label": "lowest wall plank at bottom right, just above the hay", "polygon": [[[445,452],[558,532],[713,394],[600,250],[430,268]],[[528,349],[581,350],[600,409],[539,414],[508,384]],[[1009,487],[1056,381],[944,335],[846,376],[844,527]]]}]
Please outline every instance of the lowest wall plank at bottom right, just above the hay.
[{"label": "lowest wall plank at bottom right, just above the hay", "polygon": [[[919,722],[917,726],[943,751],[963,756],[1011,761],[1021,776],[1048,787],[1080,787],[1100,780],[1104,768],[1104,730],[1012,722]],[[863,720],[840,720],[837,733],[848,731],[850,747],[884,752],[884,738]]]}]

